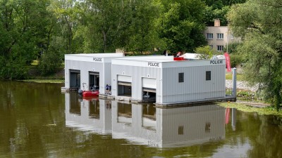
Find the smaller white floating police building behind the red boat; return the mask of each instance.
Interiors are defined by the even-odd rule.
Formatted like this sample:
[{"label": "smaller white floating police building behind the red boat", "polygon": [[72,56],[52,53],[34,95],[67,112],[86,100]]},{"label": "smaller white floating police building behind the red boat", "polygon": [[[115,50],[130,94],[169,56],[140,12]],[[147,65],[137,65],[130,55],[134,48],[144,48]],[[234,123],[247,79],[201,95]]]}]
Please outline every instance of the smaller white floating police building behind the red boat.
[{"label": "smaller white floating police building behind the red boat", "polygon": [[63,88],[99,89],[99,93],[105,93],[106,84],[111,84],[111,60],[121,57],[123,53],[66,54]]}]

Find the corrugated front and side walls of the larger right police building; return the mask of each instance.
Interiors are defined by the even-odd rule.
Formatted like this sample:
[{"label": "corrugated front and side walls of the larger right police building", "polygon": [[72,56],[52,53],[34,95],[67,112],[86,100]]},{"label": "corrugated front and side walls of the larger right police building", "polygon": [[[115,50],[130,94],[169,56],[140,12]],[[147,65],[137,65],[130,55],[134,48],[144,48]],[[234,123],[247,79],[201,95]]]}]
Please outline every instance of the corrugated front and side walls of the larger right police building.
[{"label": "corrugated front and side walls of the larger right police building", "polygon": [[[210,81],[206,81],[206,71],[212,73]],[[178,73],[181,72],[184,73],[184,82],[178,83]],[[132,77],[132,98],[136,100],[142,100],[142,77],[157,80],[156,103],[179,103],[225,97],[226,95],[225,65],[170,67],[164,69],[112,65],[113,96],[117,96],[117,75]]]}]

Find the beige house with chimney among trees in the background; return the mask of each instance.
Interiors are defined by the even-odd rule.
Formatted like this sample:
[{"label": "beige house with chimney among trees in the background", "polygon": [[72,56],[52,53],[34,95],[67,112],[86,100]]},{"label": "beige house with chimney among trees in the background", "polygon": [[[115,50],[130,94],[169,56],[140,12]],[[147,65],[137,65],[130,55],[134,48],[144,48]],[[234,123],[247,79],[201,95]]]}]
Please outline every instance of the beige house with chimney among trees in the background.
[{"label": "beige house with chimney among trees in the background", "polygon": [[240,41],[240,38],[233,37],[228,26],[220,26],[220,20],[214,20],[214,26],[207,27],[204,36],[208,45],[216,51],[223,51],[225,47],[228,51],[228,44]]}]

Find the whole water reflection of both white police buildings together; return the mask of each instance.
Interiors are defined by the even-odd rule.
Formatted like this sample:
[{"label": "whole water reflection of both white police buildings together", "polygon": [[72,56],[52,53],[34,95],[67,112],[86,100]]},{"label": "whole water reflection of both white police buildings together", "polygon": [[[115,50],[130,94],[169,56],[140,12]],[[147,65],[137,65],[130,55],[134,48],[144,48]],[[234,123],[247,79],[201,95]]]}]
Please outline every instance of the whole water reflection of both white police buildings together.
[{"label": "whole water reflection of both white police buildings together", "polygon": [[70,93],[65,95],[66,126],[78,130],[153,147],[183,147],[225,138],[226,110],[217,105],[163,109],[153,104],[83,98],[78,114]]}]

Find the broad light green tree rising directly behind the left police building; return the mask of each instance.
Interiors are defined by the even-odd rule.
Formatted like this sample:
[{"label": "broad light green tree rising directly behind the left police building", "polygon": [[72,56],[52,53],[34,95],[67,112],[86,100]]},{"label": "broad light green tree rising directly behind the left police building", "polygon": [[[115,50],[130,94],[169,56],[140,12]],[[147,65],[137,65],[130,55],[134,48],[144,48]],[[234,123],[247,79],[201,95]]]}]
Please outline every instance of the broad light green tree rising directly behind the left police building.
[{"label": "broad light green tree rising directly behind the left police building", "polygon": [[129,34],[125,36],[123,30],[132,22],[133,1],[89,0],[80,5],[83,23],[78,32],[85,40],[85,51],[113,52],[121,47],[120,40],[127,41]]}]

